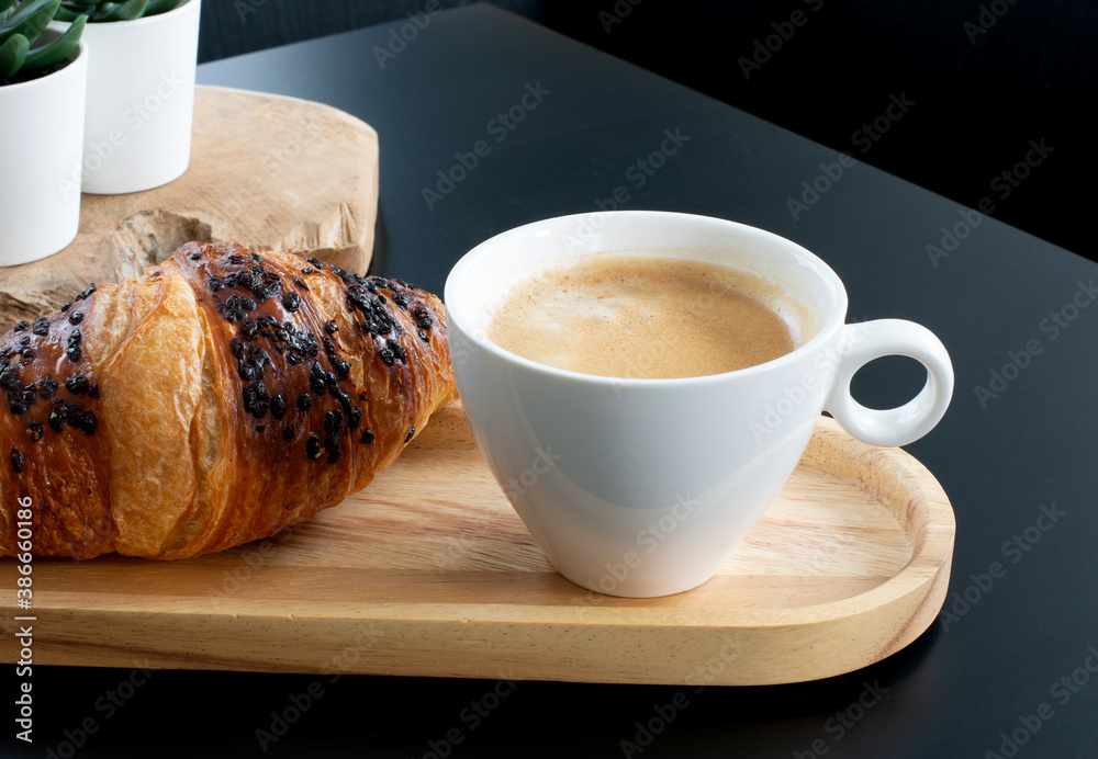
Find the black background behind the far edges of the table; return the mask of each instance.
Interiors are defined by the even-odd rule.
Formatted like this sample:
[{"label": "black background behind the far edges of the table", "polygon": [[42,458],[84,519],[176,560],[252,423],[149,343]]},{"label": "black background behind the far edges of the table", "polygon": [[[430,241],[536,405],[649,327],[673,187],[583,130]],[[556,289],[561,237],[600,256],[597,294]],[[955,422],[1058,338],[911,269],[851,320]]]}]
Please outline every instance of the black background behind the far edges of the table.
[{"label": "black background behind the far edges of the table", "polygon": [[[469,0],[440,0],[453,8]],[[1090,259],[1098,3],[1071,0],[498,0]],[[206,0],[200,58],[405,20],[426,0]],[[818,9],[818,10],[817,10]],[[789,26],[795,12],[800,26]],[[775,30],[775,25],[782,27]],[[789,33],[792,31],[792,34]],[[787,39],[781,37],[784,32]],[[774,35],[778,36],[774,36]],[[766,49],[766,45],[771,49]],[[757,46],[763,53],[757,53]],[[770,53],[766,60],[764,56]],[[765,60],[746,77],[742,59]],[[916,103],[872,148],[851,135],[890,95]],[[1030,140],[1053,148],[1002,197]]]}]

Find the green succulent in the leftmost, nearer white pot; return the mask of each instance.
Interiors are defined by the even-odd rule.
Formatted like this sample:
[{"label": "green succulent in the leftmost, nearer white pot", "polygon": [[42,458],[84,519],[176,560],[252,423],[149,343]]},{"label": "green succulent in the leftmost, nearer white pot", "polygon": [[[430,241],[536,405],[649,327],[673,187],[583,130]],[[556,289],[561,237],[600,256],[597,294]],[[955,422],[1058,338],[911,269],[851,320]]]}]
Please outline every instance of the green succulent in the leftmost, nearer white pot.
[{"label": "green succulent in the leftmost, nearer white pot", "polygon": [[57,38],[32,48],[60,4],[61,0],[0,0],[0,81],[24,69],[53,66],[80,43],[88,21],[85,14],[72,16],[72,23]]}]

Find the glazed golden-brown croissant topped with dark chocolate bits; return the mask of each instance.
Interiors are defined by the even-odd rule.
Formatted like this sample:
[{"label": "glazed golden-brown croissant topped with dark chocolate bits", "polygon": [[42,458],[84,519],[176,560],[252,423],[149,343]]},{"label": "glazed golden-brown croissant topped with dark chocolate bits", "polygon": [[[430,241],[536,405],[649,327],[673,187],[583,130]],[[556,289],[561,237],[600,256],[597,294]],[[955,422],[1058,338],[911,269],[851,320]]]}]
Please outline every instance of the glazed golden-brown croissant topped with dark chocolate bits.
[{"label": "glazed golden-brown croissant topped with dark chocolate bits", "polygon": [[198,242],[20,322],[0,393],[0,555],[25,507],[35,554],[156,559],[335,506],[457,396],[434,295]]}]

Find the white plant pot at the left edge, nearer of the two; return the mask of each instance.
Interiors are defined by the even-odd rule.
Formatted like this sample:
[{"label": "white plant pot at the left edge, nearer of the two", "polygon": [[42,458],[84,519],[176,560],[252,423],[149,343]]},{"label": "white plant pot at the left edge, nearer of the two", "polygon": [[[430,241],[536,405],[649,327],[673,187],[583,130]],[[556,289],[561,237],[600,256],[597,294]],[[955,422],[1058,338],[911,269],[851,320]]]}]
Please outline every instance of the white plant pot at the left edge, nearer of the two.
[{"label": "white plant pot at the left edge, nearer of the two", "polygon": [[59,71],[0,87],[0,267],[53,256],[80,226],[87,45],[72,55]]}]

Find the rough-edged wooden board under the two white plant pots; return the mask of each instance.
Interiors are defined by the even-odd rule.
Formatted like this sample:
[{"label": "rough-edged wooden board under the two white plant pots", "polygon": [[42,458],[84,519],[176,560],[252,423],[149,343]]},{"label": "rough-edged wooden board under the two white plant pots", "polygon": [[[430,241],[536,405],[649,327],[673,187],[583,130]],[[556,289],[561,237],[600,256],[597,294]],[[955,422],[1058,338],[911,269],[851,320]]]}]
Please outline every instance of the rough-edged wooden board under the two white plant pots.
[{"label": "rough-edged wooden board under the two white plant pots", "polygon": [[290,250],[366,272],[377,212],[370,125],[321,103],[200,86],[187,172],[146,192],[82,195],[67,248],[0,268],[0,332],[91,282],[136,276],[190,240]]}]

